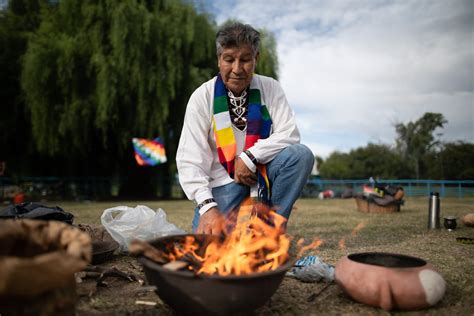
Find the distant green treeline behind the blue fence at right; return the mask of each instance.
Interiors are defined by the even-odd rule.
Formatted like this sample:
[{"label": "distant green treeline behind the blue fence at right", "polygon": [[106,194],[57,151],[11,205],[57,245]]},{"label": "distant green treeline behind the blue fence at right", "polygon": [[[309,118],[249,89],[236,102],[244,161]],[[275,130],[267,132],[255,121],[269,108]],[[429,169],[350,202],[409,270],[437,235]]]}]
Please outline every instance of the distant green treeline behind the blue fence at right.
[{"label": "distant green treeline behind the blue fence at right", "polygon": [[[371,144],[318,161],[329,179],[474,179],[474,144],[440,143],[433,135],[447,123],[442,114],[425,113],[416,122],[397,124],[397,147]],[[438,134],[440,135],[440,134]]]}]

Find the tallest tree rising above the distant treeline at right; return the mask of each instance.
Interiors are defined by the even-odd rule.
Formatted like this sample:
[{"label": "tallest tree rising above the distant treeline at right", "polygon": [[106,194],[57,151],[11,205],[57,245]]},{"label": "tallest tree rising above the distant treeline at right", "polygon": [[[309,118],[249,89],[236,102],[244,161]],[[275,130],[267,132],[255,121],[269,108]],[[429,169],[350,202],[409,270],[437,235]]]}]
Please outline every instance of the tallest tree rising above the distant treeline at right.
[{"label": "tallest tree rising above the distant treeline at right", "polygon": [[439,141],[433,136],[437,128],[443,128],[448,121],[441,113],[425,113],[416,122],[395,125],[397,148],[420,178],[422,158],[430,153]]}]

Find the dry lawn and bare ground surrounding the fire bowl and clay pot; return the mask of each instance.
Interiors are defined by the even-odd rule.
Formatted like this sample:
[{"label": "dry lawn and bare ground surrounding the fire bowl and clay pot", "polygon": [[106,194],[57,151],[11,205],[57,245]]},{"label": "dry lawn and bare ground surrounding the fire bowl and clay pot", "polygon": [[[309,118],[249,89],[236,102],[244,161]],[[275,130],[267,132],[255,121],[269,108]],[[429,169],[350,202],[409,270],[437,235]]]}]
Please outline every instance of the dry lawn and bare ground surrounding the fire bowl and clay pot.
[{"label": "dry lawn and bare ground surrounding the fire bowl and clay pot", "polygon": [[[186,231],[191,230],[193,204],[189,201],[114,201],[114,202],[61,202],[57,205],[75,215],[75,223],[100,224],[100,215],[108,208],[118,205],[147,205],[152,209],[162,208],[168,220]],[[409,314],[429,315],[474,315],[474,245],[461,244],[456,237],[474,237],[474,228],[464,226],[459,220],[464,214],[474,213],[473,198],[445,198],[441,200],[441,216],[458,217],[458,228],[449,232],[442,228],[428,230],[428,199],[409,198],[401,212],[391,214],[368,214],[357,211],[353,199],[301,199],[291,215],[288,234],[295,240],[314,238],[324,240],[315,254],[329,264],[343,256],[366,251],[399,253],[422,258],[433,264],[447,282],[444,298],[430,309]],[[353,235],[353,229],[363,223],[363,228]],[[345,240],[345,248],[339,241]],[[135,259],[117,256],[112,266],[137,267]],[[81,297],[78,315],[91,314],[156,314],[171,315],[172,311],[154,293],[138,297],[121,290],[124,281],[114,281],[98,289],[94,295]],[[122,282],[122,283],[120,283]],[[113,282],[112,282],[113,283]],[[256,311],[256,315],[367,315],[387,314],[383,310],[356,303],[332,284],[313,299],[311,294],[324,288],[324,283],[302,283],[285,278],[272,299]],[[114,291],[117,293],[114,295]],[[132,294],[130,294],[132,293]],[[142,295],[142,294],[140,294]],[[137,299],[157,302],[156,306],[136,305]],[[403,313],[406,314],[406,313]]]}]

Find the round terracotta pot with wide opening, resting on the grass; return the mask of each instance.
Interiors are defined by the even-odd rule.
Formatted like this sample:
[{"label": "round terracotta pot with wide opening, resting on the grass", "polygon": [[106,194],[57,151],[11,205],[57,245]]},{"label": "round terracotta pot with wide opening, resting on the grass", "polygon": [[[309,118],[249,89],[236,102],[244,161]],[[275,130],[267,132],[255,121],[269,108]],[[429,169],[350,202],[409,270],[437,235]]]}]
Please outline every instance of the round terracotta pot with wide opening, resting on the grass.
[{"label": "round terracotta pot with wide opening, resting on the grass", "polygon": [[430,307],[446,289],[443,277],[430,263],[380,252],[343,257],[336,264],[335,279],[354,300],[386,311]]}]

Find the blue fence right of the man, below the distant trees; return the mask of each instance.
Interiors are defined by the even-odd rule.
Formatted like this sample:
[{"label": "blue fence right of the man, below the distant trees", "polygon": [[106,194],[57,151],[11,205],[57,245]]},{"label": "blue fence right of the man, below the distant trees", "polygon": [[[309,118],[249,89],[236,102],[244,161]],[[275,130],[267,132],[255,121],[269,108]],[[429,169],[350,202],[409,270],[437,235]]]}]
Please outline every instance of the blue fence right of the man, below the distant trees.
[{"label": "blue fence right of the man, below the distant trees", "polygon": [[[474,197],[474,180],[377,180],[380,185],[403,187],[405,196],[428,196],[430,192],[439,192],[442,197]],[[368,180],[327,180],[312,178],[308,180],[303,196],[315,197],[319,192],[332,190],[336,196],[344,191],[362,192],[363,185],[370,184]]]}]

